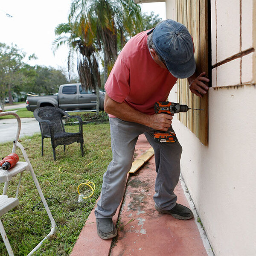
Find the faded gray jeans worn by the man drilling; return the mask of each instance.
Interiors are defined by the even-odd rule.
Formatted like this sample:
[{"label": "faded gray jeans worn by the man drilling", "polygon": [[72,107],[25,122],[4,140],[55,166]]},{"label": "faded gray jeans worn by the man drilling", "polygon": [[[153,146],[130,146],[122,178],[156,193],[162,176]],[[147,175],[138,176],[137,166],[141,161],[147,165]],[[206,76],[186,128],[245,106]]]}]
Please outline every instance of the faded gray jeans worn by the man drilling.
[{"label": "faded gray jeans worn by the man drilling", "polygon": [[[101,198],[95,209],[96,218],[112,218],[115,215],[122,201],[138,136],[143,133],[155,153],[157,177],[154,202],[160,209],[172,209],[177,201],[173,190],[180,176],[180,143],[155,143],[152,128],[118,118],[110,118],[110,128],[113,158],[103,175]],[[173,131],[172,127],[169,130]]]}]

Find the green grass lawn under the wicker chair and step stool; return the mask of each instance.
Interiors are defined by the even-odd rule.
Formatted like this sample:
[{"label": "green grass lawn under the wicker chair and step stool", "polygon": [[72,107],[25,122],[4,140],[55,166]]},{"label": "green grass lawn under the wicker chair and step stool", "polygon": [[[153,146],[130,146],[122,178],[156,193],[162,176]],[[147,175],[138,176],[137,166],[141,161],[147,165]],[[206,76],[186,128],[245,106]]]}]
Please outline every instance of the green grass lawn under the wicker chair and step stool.
[{"label": "green grass lawn under the wicker chair and step stool", "polygon": [[[32,113],[32,112],[31,112]],[[74,132],[76,126],[66,126],[67,131]],[[50,139],[44,140],[44,156],[41,157],[41,135],[21,138],[20,143],[26,149],[29,160],[38,178],[38,182],[49,208],[55,219],[57,230],[55,234],[34,254],[35,256],[68,256],[81,232],[85,221],[90,214],[96,199],[99,197],[102,184],[102,175],[111,161],[111,141],[109,123],[83,125],[86,154],[81,157],[80,145],[73,143],[56,148],[56,161],[53,161]],[[0,145],[0,157],[10,154],[12,143]],[[20,149],[16,153],[21,157]],[[59,168],[61,170],[59,171]],[[15,197],[19,175],[9,183],[7,195]],[[77,186],[90,180],[96,185],[91,198],[78,203]],[[3,183],[0,184],[3,189]],[[79,188],[81,193],[87,193],[84,187]],[[1,217],[7,236],[14,250],[15,256],[27,255],[51,229],[51,223],[42,204],[32,210],[40,202],[35,184],[30,172],[23,174],[20,191],[20,204]],[[0,239],[0,255],[8,253],[3,240]]]}]

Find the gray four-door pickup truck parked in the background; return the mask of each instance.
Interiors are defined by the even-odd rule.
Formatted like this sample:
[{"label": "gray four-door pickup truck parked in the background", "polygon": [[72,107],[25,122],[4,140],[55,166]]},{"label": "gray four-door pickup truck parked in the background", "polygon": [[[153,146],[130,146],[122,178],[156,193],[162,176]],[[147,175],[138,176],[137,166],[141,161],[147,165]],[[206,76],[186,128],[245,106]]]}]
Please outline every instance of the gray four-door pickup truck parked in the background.
[{"label": "gray four-door pickup truck parked in the background", "polygon": [[[99,110],[103,111],[105,93],[99,92]],[[62,84],[58,95],[28,96],[26,99],[28,111],[44,106],[53,106],[64,111],[95,111],[96,92],[84,90],[81,84]]]}]

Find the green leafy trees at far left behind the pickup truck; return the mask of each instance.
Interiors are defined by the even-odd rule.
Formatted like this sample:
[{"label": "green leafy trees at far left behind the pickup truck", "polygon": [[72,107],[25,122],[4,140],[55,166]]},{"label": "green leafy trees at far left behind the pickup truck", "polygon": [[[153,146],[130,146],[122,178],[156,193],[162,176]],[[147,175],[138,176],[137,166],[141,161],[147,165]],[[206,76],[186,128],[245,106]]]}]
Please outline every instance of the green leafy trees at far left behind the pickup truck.
[{"label": "green leafy trees at far left behind the pickup truck", "polygon": [[[23,62],[26,53],[16,45],[0,43],[0,105],[4,109],[4,99],[12,94],[34,92],[52,94],[58,91],[60,84],[67,83],[64,71],[44,66],[30,66]],[[29,60],[36,58],[30,55]]]}]

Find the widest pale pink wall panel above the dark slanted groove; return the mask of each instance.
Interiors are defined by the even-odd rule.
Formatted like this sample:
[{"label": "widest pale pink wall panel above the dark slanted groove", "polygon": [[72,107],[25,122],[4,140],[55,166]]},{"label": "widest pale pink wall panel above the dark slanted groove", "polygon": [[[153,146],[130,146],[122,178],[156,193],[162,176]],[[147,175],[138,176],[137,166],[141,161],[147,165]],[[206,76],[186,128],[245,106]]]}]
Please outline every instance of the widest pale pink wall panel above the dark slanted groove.
[{"label": "widest pale pink wall panel above the dark slanted groove", "polygon": [[217,62],[220,62],[240,52],[240,0],[216,0],[216,6]]}]

